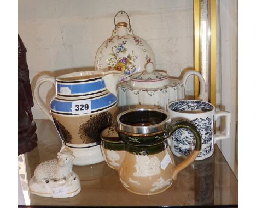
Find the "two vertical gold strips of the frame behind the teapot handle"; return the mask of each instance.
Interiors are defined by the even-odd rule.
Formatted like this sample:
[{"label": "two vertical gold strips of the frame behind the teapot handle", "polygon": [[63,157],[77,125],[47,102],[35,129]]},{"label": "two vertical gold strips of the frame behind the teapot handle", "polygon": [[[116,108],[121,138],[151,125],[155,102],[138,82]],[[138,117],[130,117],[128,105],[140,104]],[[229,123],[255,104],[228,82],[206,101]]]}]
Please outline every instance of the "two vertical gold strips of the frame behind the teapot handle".
[{"label": "two vertical gold strips of the frame behind the teapot handle", "polygon": [[[216,0],[208,0],[210,3],[210,100],[216,105]],[[201,73],[201,0],[193,0],[194,20],[194,68]],[[194,97],[199,96],[199,79],[194,76]]]}]

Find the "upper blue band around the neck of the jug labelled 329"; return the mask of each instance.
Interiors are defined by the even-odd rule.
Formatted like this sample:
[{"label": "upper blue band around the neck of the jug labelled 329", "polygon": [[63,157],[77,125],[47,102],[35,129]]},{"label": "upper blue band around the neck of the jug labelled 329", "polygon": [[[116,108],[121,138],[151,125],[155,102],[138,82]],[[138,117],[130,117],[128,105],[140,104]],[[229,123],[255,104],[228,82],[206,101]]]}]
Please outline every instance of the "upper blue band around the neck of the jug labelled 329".
[{"label": "upper blue band around the neck of the jug labelled 329", "polygon": [[83,83],[83,84],[60,84],[57,83],[57,93],[61,93],[61,88],[69,88],[71,90],[71,94],[77,93],[91,93],[92,91],[101,90],[106,88],[106,85],[102,79],[97,82],[92,83]]}]

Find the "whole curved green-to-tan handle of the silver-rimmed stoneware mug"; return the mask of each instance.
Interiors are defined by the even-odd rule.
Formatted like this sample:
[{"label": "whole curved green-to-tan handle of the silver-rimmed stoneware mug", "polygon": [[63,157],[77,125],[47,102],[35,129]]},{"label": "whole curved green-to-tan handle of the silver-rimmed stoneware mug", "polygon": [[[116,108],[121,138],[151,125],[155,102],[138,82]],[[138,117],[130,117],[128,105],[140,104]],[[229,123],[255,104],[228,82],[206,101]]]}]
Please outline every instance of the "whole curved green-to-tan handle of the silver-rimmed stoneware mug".
[{"label": "whole curved green-to-tan handle of the silver-rimmed stoneware mug", "polygon": [[189,121],[177,121],[176,123],[171,125],[169,127],[169,136],[171,136],[174,131],[181,128],[191,131],[195,136],[196,143],[193,152],[191,152],[191,154],[187,158],[185,158],[181,163],[177,164],[177,166],[174,167],[173,180],[176,180],[177,174],[181,172],[181,170],[183,170],[184,168],[188,167],[189,164],[195,160],[195,158],[199,155],[202,146],[202,137],[199,130],[197,130],[197,128]]}]

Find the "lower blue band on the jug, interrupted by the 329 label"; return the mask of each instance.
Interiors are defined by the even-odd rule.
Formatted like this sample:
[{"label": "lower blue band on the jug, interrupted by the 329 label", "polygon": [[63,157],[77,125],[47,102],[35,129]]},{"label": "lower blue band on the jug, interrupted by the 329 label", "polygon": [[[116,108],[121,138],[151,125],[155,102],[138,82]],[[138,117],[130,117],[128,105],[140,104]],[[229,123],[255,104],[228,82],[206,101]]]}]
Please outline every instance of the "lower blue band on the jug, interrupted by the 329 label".
[{"label": "lower blue band on the jug, interrupted by the 329 label", "polygon": [[[88,99],[86,99],[88,100]],[[94,111],[98,108],[104,108],[109,106],[117,101],[117,97],[110,93],[107,96],[99,97],[98,99],[91,100],[91,111]],[[72,102],[63,102],[61,100],[51,101],[51,109],[53,111],[60,112],[71,112],[72,113]]]}]

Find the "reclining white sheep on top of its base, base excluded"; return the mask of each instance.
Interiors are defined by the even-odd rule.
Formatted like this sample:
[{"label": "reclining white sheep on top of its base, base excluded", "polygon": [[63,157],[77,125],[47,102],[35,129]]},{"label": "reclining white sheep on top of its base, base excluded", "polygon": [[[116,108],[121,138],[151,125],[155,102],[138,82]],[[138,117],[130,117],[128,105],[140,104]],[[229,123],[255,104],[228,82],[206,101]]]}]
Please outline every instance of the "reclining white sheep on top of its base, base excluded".
[{"label": "reclining white sheep on top of its base, base excluded", "polygon": [[72,167],[75,156],[70,152],[58,152],[57,155],[57,160],[44,161],[37,166],[34,170],[36,181],[60,181],[73,175]]}]

